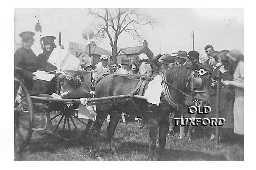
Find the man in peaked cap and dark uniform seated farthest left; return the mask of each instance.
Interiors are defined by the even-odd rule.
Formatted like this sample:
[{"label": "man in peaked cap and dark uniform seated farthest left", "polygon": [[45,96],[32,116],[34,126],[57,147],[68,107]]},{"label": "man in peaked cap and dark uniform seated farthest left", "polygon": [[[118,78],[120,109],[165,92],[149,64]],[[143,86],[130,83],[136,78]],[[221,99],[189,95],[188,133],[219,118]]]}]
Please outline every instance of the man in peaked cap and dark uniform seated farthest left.
[{"label": "man in peaked cap and dark uniform seated farthest left", "polygon": [[31,31],[25,31],[20,33],[22,47],[17,49],[14,54],[15,76],[24,79],[26,87],[31,90],[33,81],[37,80],[37,77],[33,74],[37,70],[36,67],[36,55],[32,51],[31,46],[34,43],[35,33]]}]

